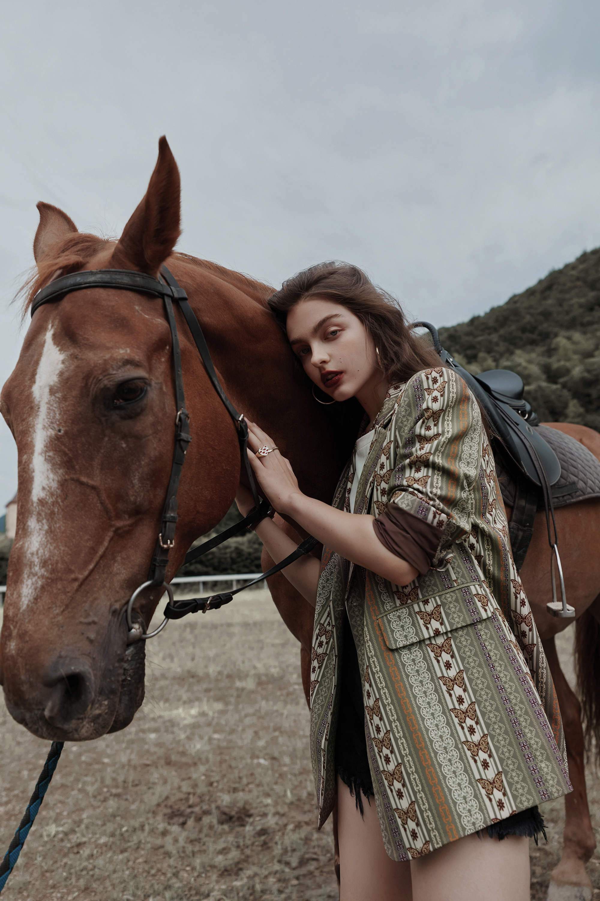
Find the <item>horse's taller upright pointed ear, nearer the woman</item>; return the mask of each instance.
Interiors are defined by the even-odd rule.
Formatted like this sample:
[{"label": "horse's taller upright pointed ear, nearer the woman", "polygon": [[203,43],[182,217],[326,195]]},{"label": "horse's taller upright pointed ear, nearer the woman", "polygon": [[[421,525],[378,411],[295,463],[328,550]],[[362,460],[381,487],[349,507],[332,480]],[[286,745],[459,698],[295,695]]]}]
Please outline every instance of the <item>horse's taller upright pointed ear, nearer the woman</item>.
[{"label": "horse's taller upright pointed ear, nearer the woman", "polygon": [[180,196],[179,169],[163,135],[148,191],[123,229],[112,253],[112,268],[135,268],[157,275],[181,233]]}]

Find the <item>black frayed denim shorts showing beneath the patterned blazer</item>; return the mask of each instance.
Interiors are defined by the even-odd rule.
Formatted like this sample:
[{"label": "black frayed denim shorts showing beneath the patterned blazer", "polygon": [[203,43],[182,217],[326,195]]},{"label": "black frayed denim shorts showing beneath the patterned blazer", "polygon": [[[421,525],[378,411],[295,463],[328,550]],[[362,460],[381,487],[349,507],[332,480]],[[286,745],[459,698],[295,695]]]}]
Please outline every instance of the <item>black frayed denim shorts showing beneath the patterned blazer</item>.
[{"label": "black frayed denim shorts showing beneath the patterned blazer", "polygon": [[[363,797],[371,803],[374,796],[367,744],[364,736],[363,684],[354,645],[354,636],[344,613],[342,666],[340,669],[340,702],[336,729],[336,774],[356,798],[356,808],[363,815]],[[530,835],[538,843],[542,833],[546,842],[542,814],[537,805],[520,810],[497,823],[477,831],[479,838],[487,832],[490,838],[502,840],[506,835]]]}]

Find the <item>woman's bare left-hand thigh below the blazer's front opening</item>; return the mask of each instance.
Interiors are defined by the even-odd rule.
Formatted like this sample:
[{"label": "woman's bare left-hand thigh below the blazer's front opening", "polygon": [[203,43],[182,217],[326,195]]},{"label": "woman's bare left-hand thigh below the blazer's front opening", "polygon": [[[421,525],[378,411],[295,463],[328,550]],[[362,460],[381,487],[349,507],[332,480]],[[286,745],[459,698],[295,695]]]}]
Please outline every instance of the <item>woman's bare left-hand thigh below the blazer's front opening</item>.
[{"label": "woman's bare left-hand thigh below the blazer's front opening", "polygon": [[[340,901],[412,901],[409,861],[391,860],[383,847],[375,802],[363,797],[364,819],[350,789],[337,777]],[[437,893],[430,896],[444,897]],[[463,901],[463,899],[461,899]],[[520,901],[511,898],[510,901]]]}]

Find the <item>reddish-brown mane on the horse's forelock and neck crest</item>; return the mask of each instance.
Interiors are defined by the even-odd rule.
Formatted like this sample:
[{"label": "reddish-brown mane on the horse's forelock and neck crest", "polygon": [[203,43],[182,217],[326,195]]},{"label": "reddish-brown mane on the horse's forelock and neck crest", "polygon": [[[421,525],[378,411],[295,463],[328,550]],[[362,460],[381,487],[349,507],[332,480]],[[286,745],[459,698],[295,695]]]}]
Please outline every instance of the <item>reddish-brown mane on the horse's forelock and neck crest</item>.
[{"label": "reddish-brown mane on the horse's forelock and neck crest", "polygon": [[[61,270],[61,275],[68,275],[71,272],[77,272],[85,267],[96,253],[111,244],[115,244],[116,240],[112,238],[100,238],[95,234],[86,234],[85,232],[74,232],[69,235],[58,247],[56,254],[47,255],[35,266],[28,278],[19,288],[13,301],[22,299],[22,320],[31,306],[33,297],[37,294],[41,287],[49,281],[49,278],[57,271]],[[256,281],[254,278],[243,275],[241,272],[235,272],[233,269],[219,266],[218,263],[210,262],[208,259],[199,259],[193,257],[189,253],[174,254],[175,259],[181,259],[182,262],[191,263],[193,266],[205,269],[214,275],[226,281],[228,285],[239,287],[242,290],[250,288],[253,294],[263,301],[273,294],[273,287],[264,285],[263,282]]]}]

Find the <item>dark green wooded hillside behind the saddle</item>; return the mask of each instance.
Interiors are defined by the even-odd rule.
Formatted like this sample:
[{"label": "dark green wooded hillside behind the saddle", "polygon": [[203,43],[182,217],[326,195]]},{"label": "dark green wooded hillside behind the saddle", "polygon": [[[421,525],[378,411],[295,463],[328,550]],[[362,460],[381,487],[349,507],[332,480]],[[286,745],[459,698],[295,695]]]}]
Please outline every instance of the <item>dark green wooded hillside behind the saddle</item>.
[{"label": "dark green wooded hillside behind the saddle", "polygon": [[542,421],[600,431],[600,249],[506,304],[440,329],[440,339],[471,372],[518,372]]}]

